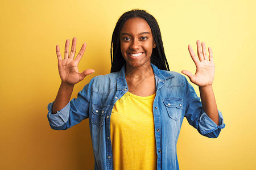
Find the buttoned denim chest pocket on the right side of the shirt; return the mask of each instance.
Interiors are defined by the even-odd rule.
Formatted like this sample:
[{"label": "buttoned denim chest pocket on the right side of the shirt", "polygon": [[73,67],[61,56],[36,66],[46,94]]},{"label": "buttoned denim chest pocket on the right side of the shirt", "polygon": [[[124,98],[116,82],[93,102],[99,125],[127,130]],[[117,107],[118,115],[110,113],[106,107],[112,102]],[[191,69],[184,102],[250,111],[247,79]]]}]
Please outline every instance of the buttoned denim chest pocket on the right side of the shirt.
[{"label": "buttoned denim chest pocket on the right side of the shirt", "polygon": [[180,120],[183,111],[183,99],[163,99],[167,113],[173,120]]}]

